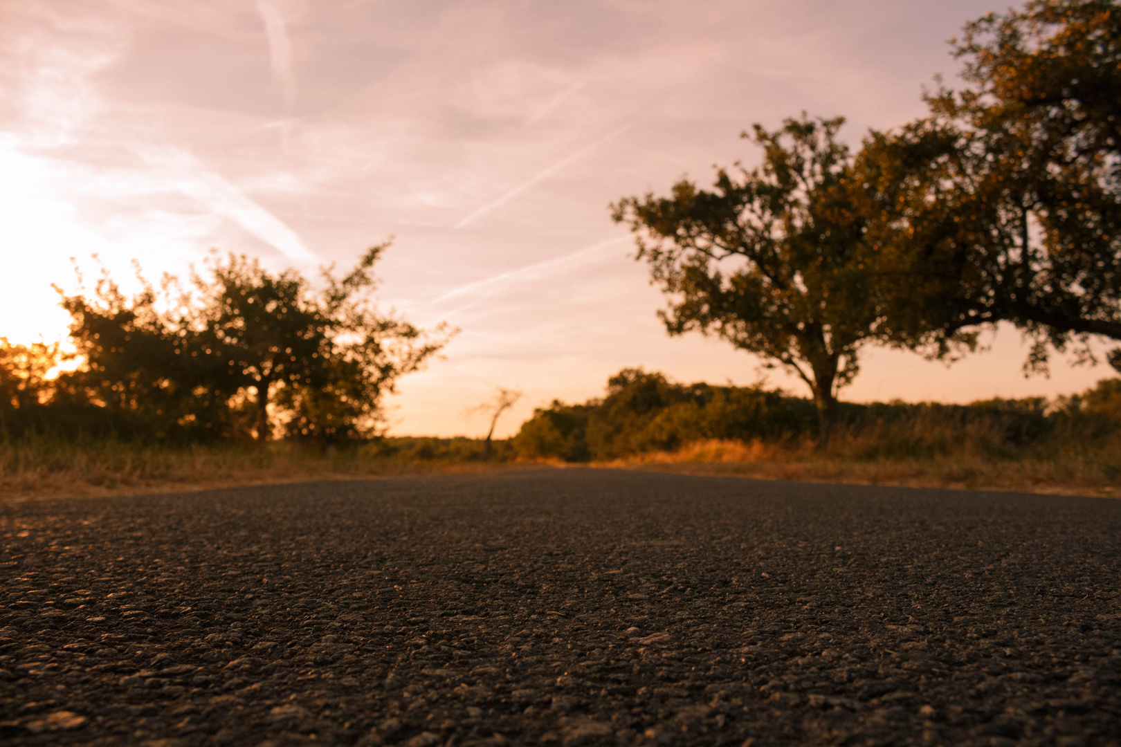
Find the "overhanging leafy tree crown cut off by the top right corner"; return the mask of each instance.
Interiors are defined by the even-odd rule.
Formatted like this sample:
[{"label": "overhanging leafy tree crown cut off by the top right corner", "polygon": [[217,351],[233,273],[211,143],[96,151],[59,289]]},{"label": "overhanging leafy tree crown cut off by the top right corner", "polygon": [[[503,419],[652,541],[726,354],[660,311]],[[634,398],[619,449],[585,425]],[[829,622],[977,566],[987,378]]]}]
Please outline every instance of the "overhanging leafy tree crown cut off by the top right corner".
[{"label": "overhanging leafy tree crown cut off by the top right corner", "polygon": [[1034,0],[969,24],[961,91],[873,134],[869,189],[888,328],[946,355],[1016,324],[1028,370],[1121,339],[1121,6]]}]

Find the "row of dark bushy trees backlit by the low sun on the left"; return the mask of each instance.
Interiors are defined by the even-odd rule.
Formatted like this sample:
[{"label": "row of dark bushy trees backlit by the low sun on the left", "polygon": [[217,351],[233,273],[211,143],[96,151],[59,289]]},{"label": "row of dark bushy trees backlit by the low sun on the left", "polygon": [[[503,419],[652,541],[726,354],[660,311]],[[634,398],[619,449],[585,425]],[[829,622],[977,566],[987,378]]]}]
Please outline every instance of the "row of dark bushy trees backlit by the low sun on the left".
[{"label": "row of dark bushy trees backlit by the low sun on the left", "polygon": [[[127,440],[266,441],[321,446],[368,438],[382,400],[450,330],[425,332],[371,298],[373,265],[388,242],[367,250],[321,288],[295,270],[213,254],[187,283],[165,276],[126,296],[108,274],[87,293],[65,295],[74,353],[59,346],[0,345],[0,427]],[[81,365],[48,376],[67,357]]]}]

